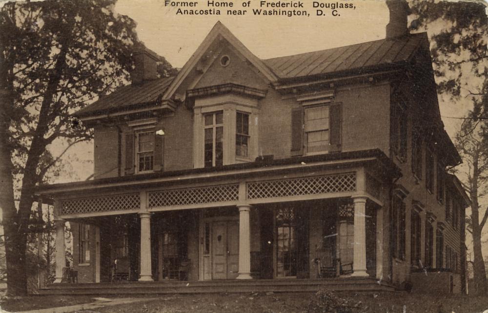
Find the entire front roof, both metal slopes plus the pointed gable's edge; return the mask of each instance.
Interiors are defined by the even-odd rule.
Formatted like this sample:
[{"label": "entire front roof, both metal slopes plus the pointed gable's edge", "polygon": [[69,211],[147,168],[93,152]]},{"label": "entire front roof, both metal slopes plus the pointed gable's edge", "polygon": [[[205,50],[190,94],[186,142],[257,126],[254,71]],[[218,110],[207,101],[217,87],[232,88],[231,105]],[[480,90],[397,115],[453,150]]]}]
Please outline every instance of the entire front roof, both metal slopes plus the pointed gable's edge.
[{"label": "entire front roof, both metal slopes plus the pointed gable's edge", "polygon": [[286,57],[259,59],[221,22],[217,22],[176,77],[149,80],[142,85],[124,86],[81,109],[76,115],[79,117],[106,115],[132,107],[137,108],[138,105],[170,100],[219,36],[242,53],[270,82],[278,84],[286,84],[287,80],[294,78],[313,79],[316,76],[329,77],[337,74],[363,74],[386,70],[391,66],[406,64],[420,47],[424,46],[428,49],[427,33],[420,33]]}]

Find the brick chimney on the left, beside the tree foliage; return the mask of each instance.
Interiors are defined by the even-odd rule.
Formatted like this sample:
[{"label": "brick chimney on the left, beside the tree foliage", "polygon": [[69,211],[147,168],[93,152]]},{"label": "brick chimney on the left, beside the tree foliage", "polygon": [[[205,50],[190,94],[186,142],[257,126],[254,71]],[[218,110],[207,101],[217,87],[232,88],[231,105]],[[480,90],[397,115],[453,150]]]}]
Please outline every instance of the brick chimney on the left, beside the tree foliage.
[{"label": "brick chimney on the left, beside the tree foliage", "polygon": [[134,59],[134,69],[130,73],[132,84],[138,85],[145,80],[159,78],[157,69],[161,57],[154,51],[139,44],[135,47],[132,58]]}]

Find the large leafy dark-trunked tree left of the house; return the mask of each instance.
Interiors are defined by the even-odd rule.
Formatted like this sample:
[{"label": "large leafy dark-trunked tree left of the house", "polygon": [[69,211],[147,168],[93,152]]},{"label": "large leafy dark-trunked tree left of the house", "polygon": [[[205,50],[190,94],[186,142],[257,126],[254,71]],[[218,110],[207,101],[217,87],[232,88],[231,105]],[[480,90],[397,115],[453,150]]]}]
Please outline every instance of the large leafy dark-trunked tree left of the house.
[{"label": "large leafy dark-trunked tree left of the house", "polygon": [[[27,292],[26,247],[35,186],[92,133],[70,117],[127,83],[135,23],[116,0],[7,2],[0,8],[0,207],[7,292]],[[163,62],[166,68],[171,68]],[[51,144],[64,144],[53,155]]]}]

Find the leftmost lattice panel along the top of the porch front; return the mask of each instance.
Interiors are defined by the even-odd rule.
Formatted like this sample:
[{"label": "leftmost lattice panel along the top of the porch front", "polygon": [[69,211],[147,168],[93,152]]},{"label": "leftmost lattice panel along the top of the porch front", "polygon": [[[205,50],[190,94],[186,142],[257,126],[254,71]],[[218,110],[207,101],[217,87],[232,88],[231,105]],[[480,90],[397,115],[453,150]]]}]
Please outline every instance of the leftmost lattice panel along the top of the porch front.
[{"label": "leftmost lattice panel along the top of the porch front", "polygon": [[139,194],[96,196],[90,198],[69,199],[61,201],[61,214],[82,214],[107,211],[139,210]]}]

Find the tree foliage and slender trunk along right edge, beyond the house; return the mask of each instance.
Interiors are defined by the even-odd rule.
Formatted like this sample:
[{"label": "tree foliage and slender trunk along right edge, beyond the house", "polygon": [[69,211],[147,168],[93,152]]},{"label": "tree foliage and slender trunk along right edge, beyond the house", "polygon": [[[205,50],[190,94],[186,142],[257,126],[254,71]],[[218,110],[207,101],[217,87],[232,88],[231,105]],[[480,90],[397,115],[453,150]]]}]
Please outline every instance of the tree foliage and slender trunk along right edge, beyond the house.
[{"label": "tree foliage and slender trunk along right edge, beyond the house", "polygon": [[468,231],[473,236],[473,272],[478,292],[487,293],[481,235],[487,211],[480,219],[479,200],[486,194],[488,174],[488,19],[486,5],[468,1],[411,0],[410,29],[427,30],[438,93],[470,107],[456,146],[468,168],[466,186],[472,200]]}]

